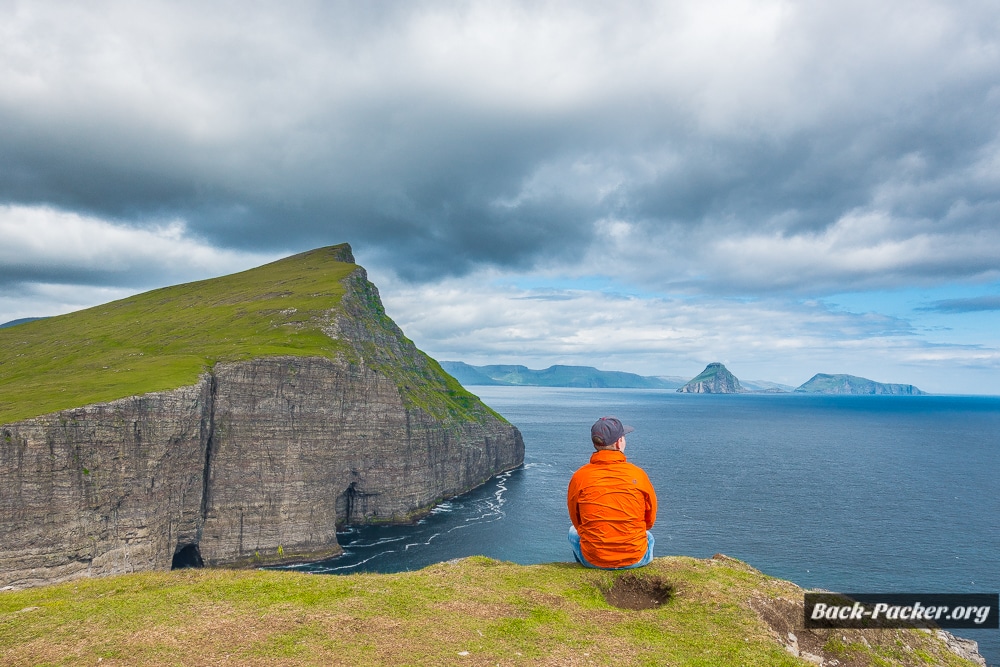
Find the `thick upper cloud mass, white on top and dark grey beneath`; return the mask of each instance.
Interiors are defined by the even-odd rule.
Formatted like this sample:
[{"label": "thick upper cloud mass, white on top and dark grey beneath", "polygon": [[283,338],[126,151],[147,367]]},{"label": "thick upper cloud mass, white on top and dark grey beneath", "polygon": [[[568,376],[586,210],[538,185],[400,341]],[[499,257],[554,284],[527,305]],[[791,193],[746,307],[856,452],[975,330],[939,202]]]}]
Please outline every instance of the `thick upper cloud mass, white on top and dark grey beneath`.
[{"label": "thick upper cloud mass, white on top and dark grey beneath", "polygon": [[638,282],[726,293],[1000,271],[989,3],[11,9],[10,205],[349,241],[413,280],[612,246]]}]

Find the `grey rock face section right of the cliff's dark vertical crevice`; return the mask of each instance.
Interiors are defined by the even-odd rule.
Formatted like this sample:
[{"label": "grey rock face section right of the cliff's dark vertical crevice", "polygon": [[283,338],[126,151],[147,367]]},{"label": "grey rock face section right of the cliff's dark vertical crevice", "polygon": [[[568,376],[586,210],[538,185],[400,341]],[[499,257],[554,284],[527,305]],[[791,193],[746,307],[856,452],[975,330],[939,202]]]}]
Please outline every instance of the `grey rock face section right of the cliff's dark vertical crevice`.
[{"label": "grey rock face section right of the cliff's dark vertical crevice", "polygon": [[[217,374],[200,551],[206,564],[330,550],[338,523],[412,520],[519,465],[499,420],[442,423],[396,385],[325,359],[267,359]],[[280,444],[278,444],[280,443]]]}]

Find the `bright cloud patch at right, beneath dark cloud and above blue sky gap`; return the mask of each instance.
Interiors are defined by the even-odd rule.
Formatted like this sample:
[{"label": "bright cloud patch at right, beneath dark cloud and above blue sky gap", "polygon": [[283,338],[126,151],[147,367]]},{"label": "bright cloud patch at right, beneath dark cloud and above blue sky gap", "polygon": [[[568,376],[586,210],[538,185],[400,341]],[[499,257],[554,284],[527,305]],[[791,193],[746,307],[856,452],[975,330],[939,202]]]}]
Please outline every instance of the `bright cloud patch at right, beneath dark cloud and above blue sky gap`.
[{"label": "bright cloud patch at right, beneath dark cloud and above blue sky gap", "polygon": [[[963,208],[956,205],[955,214]],[[826,228],[795,231],[732,221],[651,229],[609,218],[596,223],[603,243],[590,249],[581,270],[613,267],[608,275],[654,291],[731,295],[818,296],[996,280],[1000,227],[977,217],[982,223],[953,225],[858,209]]]}]

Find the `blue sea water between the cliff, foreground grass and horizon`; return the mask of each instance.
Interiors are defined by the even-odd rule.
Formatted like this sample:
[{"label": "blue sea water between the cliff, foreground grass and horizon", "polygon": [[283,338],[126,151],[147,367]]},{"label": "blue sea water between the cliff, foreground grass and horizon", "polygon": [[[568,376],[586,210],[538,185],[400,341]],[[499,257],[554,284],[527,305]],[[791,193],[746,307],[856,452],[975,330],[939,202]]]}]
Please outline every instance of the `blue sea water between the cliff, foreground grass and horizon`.
[{"label": "blue sea water between the cliff, foreground grass and horizon", "polygon": [[[343,533],[344,556],[301,569],[572,560],[566,484],[615,415],[657,490],[657,555],[725,553],[806,588],[1000,591],[1000,398],[473,390],[521,430],[524,466],[419,524]],[[1000,631],[956,634],[1000,665]]]}]

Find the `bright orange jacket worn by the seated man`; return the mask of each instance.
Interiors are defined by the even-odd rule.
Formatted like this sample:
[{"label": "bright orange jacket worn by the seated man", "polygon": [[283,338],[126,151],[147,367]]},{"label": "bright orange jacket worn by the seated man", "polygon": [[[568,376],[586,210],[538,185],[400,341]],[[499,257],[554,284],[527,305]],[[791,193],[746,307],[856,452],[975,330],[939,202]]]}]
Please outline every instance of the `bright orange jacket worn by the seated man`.
[{"label": "bright orange jacket worn by the seated man", "polygon": [[656,521],[656,492],[645,471],[625,454],[602,449],[569,481],[569,518],[591,565],[624,567],[646,553],[646,531]]}]

